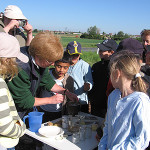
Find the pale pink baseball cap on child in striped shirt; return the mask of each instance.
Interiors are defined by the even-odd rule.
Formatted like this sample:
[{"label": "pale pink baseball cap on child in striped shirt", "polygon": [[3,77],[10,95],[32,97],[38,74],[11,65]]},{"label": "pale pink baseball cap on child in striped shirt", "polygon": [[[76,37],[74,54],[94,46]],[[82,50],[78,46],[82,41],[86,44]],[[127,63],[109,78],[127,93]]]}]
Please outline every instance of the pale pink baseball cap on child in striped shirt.
[{"label": "pale pink baseball cap on child in striped shirt", "polygon": [[20,52],[18,40],[5,32],[0,32],[0,57],[17,57],[22,62],[27,63],[28,57]]}]

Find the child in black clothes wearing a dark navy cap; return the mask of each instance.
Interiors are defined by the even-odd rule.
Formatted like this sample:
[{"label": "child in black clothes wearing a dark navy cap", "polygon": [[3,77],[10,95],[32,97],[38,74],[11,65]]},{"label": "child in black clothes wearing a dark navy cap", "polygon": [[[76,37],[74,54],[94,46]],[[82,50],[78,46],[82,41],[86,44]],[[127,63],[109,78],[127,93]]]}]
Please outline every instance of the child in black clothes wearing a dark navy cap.
[{"label": "child in black clothes wearing a dark navy cap", "polygon": [[93,88],[89,91],[91,114],[102,118],[105,118],[107,110],[106,89],[109,80],[108,63],[111,55],[116,51],[117,46],[117,43],[112,39],[107,39],[101,44],[97,44],[97,53],[101,61],[92,66]]}]

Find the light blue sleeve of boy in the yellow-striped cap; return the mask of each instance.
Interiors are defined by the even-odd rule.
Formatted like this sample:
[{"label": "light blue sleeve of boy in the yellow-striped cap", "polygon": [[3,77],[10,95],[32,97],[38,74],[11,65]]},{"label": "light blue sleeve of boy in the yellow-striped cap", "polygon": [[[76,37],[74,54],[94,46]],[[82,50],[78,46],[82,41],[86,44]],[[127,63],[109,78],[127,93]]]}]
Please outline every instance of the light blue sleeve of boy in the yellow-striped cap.
[{"label": "light blue sleeve of boy in the yellow-striped cap", "polygon": [[85,65],[85,69],[84,69],[84,80],[85,80],[85,83],[90,84],[90,89],[89,89],[90,91],[93,87],[93,79],[92,79],[91,66],[88,63]]}]

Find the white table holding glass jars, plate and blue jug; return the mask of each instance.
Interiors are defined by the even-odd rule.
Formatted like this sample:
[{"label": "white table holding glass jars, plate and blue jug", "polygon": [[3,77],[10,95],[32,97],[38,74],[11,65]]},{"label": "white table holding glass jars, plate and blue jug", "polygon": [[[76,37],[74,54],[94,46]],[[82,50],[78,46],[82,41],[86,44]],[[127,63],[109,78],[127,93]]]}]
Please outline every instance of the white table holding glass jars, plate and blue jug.
[{"label": "white table holding glass jars, plate and blue jug", "polygon": [[[89,114],[86,114],[89,115]],[[98,117],[99,123],[103,122],[103,118]],[[89,139],[85,139],[84,141],[80,141],[77,144],[72,143],[72,136],[68,136],[67,139],[56,140],[55,138],[47,138],[41,136],[39,133],[31,132],[26,129],[26,134],[47,144],[47,146],[54,147],[58,150],[93,150],[97,147],[98,141],[95,138],[96,131],[92,131],[92,137]],[[50,148],[47,148],[50,149]]]}]

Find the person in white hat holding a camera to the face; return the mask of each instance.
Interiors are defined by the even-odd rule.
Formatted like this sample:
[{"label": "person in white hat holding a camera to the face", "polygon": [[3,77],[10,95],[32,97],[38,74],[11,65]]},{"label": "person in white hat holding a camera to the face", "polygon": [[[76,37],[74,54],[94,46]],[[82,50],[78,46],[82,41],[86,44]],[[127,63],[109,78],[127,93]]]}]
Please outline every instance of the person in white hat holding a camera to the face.
[{"label": "person in white hat holding a camera to the face", "polygon": [[[27,37],[21,31],[20,26],[26,31]],[[32,26],[28,23],[28,19],[23,15],[21,9],[15,5],[8,5],[4,13],[1,13],[0,32],[15,36],[20,47],[29,46],[32,40]]]}]

